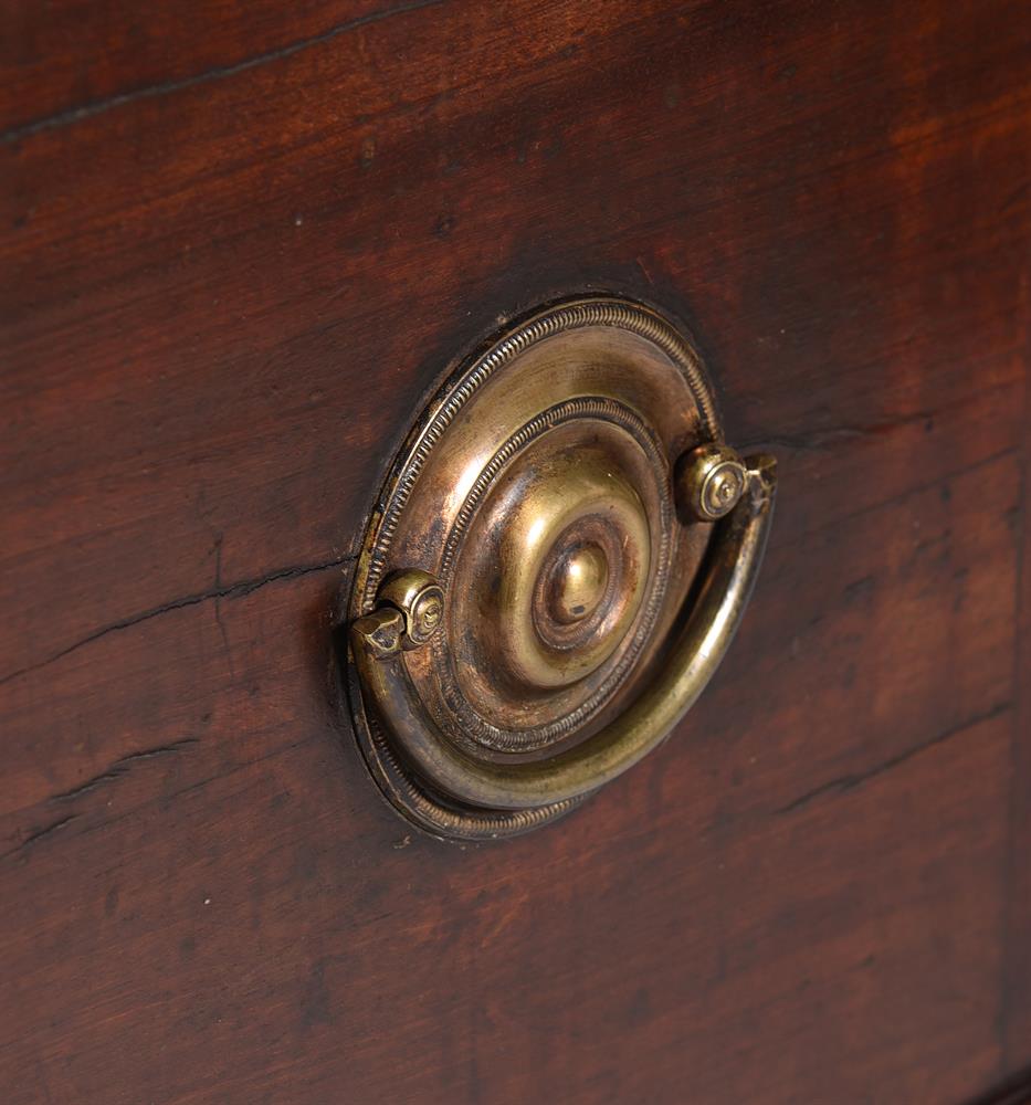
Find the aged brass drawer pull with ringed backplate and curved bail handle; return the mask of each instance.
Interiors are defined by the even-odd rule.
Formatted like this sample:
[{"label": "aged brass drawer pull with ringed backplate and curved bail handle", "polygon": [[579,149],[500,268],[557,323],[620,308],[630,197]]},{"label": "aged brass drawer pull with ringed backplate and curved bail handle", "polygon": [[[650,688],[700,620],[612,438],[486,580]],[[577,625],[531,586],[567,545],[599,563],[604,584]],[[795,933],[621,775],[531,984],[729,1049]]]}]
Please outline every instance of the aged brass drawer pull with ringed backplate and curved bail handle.
[{"label": "aged brass drawer pull with ringed backplate and curved bail handle", "polygon": [[349,604],[387,798],[436,835],[501,836],[640,759],[729,643],[772,492],[649,307],[560,303],[463,365],[394,464]]}]

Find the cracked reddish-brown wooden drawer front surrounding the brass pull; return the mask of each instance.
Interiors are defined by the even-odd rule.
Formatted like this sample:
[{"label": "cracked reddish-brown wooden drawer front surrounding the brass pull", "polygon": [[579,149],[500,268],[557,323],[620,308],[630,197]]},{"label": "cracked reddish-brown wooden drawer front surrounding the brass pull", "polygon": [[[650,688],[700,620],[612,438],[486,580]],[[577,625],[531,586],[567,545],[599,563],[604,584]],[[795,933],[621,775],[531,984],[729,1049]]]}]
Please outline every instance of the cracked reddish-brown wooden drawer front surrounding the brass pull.
[{"label": "cracked reddish-brown wooden drawer front surrounding the brass pull", "polygon": [[[20,6],[0,59],[3,1099],[1025,1069],[1028,6],[160,7]],[[587,287],[779,455],[768,560],[655,756],[441,844],[336,597],[448,361]]]}]

